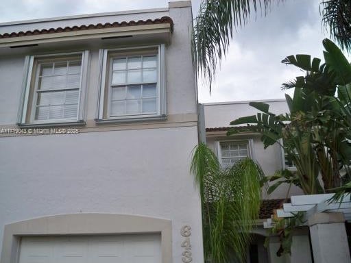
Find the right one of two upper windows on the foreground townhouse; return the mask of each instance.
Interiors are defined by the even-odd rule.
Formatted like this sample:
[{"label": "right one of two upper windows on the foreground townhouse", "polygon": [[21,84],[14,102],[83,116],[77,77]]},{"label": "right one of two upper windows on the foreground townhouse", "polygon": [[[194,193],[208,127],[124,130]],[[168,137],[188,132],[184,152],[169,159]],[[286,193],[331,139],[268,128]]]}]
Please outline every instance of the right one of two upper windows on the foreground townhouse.
[{"label": "right one of two upper windows on the foreground townhouse", "polygon": [[97,121],[165,115],[165,47],[101,51]]}]

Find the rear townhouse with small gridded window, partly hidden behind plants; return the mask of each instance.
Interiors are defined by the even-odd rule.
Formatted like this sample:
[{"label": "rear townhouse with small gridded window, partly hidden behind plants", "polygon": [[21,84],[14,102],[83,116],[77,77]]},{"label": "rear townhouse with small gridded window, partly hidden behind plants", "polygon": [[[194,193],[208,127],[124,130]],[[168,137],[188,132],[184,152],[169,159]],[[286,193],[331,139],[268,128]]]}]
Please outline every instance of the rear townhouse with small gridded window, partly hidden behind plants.
[{"label": "rear townhouse with small gridded window, partly hidden behind plants", "polygon": [[[265,175],[273,175],[281,168],[294,169],[293,164],[285,160],[284,152],[280,145],[272,145],[264,149],[261,135],[252,132],[244,132],[226,136],[230,128],[230,122],[243,116],[256,115],[258,110],[249,105],[250,101],[232,101],[222,103],[203,103],[199,105],[200,116],[202,116],[202,140],[217,155],[219,162],[225,168],[243,158],[252,158],[260,164]],[[270,105],[269,111],[274,114],[289,112],[285,99],[271,99],[261,101]],[[202,113],[202,114],[201,114]],[[201,120],[201,118],[200,118]],[[308,229],[302,228],[294,236],[293,254],[291,257],[277,257],[276,252],[280,243],[278,237],[272,237],[269,247],[264,247],[267,229],[263,229],[263,222],[271,218],[274,210],[281,208],[285,198],[291,195],[302,195],[302,191],[292,186],[287,195],[289,186],[279,186],[271,195],[263,190],[263,202],[259,213],[259,220],[254,229],[254,242],[248,251],[247,262],[252,263],[285,263],[285,262],[311,262],[311,251],[308,238]]]}]

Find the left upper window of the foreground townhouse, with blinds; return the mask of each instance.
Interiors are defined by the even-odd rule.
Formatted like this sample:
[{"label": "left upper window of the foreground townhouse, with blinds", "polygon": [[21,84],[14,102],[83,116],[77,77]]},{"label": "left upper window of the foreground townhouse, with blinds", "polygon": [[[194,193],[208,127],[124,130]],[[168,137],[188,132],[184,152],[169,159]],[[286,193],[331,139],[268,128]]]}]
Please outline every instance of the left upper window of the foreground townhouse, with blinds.
[{"label": "left upper window of the foreground townhouse, with blinds", "polygon": [[70,123],[82,120],[82,87],[87,53],[31,56],[19,123]]}]

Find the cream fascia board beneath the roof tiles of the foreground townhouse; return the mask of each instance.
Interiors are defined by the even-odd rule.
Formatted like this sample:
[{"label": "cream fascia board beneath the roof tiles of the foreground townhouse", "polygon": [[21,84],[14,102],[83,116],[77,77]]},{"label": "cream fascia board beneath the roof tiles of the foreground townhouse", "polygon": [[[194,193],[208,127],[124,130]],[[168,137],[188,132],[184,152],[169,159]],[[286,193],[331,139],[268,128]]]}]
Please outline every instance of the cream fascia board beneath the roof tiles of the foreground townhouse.
[{"label": "cream fascia board beneath the roof tiles of the foreground townhouse", "polygon": [[34,45],[48,42],[61,42],[69,40],[84,40],[91,38],[110,38],[119,36],[136,36],[144,34],[171,34],[169,23],[156,25],[135,25],[128,27],[110,27],[101,29],[78,30],[74,32],[61,32],[52,34],[39,34],[34,36],[17,36],[13,38],[0,38],[0,47],[13,47],[21,45]]}]

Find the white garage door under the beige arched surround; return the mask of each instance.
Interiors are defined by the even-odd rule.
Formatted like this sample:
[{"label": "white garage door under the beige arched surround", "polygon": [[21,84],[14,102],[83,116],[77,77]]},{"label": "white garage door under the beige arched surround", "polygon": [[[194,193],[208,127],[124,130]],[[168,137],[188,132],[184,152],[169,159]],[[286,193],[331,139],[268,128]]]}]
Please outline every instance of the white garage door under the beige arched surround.
[{"label": "white garage door under the beige arched surround", "polygon": [[160,263],[158,234],[23,237],[19,263]]}]

